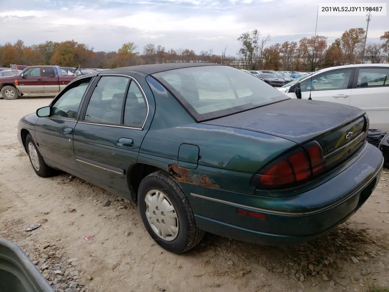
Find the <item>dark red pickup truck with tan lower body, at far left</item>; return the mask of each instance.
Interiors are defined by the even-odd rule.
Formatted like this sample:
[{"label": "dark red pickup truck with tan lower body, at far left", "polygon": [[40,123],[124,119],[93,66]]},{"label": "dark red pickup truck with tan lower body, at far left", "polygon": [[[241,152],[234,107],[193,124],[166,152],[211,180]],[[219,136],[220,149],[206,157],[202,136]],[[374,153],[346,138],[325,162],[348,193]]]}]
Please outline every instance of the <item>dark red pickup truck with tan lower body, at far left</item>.
[{"label": "dark red pickup truck with tan lower body, at far left", "polygon": [[[64,76],[58,66],[30,66],[17,76],[0,77],[0,91],[4,99],[22,95],[56,95],[77,76]],[[1,97],[0,97],[1,98]]]}]

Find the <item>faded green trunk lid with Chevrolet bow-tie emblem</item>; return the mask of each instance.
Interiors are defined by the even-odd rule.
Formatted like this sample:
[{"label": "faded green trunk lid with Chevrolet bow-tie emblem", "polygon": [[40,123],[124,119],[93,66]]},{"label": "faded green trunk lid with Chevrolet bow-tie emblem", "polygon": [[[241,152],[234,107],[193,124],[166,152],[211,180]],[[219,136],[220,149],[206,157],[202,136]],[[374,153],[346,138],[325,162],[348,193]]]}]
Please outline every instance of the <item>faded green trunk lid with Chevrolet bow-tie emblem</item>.
[{"label": "faded green trunk lid with Chevrolet bow-tie emblem", "polygon": [[317,141],[331,168],[363,144],[368,118],[362,109],[335,102],[288,99],[203,123],[266,133],[300,145]]}]

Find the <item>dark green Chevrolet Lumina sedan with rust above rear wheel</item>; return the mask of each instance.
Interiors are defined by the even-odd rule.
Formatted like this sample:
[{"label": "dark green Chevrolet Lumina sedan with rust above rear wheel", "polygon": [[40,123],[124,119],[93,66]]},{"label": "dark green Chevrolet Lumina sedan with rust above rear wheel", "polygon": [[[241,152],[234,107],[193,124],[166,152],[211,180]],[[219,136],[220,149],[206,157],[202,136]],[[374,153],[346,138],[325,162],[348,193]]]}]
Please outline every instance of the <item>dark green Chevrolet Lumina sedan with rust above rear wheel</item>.
[{"label": "dark green Chevrolet Lumina sedan with rust above rear wheel", "polygon": [[356,107],[296,100],[232,67],[166,63],[80,76],[18,123],[38,176],[56,169],[138,201],[150,236],[296,245],[369,198],[383,157]]}]

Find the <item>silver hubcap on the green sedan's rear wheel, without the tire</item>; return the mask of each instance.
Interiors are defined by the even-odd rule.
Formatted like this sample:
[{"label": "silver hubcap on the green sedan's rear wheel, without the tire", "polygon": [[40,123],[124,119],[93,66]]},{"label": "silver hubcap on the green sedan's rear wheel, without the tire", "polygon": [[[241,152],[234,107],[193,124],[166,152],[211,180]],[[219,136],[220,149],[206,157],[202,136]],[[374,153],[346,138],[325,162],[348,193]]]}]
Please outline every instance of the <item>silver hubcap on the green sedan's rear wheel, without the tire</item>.
[{"label": "silver hubcap on the green sedan's rear wheel, without the tire", "polygon": [[151,190],[145,196],[146,217],[154,232],[167,241],[178,235],[179,222],[177,212],[168,196],[159,191]]}]

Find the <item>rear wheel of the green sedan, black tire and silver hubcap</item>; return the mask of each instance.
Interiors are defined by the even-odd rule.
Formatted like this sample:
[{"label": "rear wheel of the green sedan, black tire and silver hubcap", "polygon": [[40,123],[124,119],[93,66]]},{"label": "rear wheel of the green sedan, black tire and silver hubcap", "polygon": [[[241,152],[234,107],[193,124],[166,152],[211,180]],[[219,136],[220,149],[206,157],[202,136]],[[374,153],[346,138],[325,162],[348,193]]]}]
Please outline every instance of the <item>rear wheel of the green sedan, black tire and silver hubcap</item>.
[{"label": "rear wheel of the green sedan, black tire and silver hubcap", "polygon": [[204,236],[204,231],[196,226],[184,192],[164,171],[153,172],[142,180],[138,208],[152,239],[169,252],[186,252]]}]

